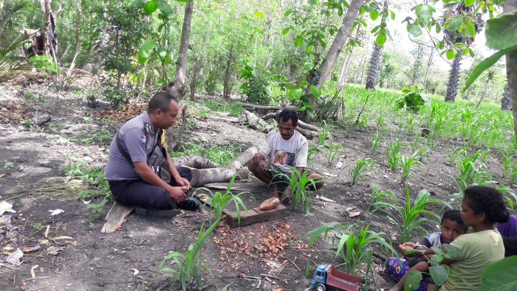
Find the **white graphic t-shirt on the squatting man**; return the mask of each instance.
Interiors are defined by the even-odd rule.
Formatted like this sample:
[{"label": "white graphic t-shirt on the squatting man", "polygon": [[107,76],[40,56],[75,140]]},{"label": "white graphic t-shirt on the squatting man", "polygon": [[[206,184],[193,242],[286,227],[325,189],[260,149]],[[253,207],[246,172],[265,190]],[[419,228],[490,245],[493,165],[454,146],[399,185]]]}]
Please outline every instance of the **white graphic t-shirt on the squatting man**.
[{"label": "white graphic t-shirt on the squatting man", "polygon": [[309,144],[305,136],[295,130],[290,139],[282,139],[277,129],[266,135],[264,148],[260,150],[266,155],[269,162],[279,167],[285,173],[292,173],[293,167],[307,167]]}]

